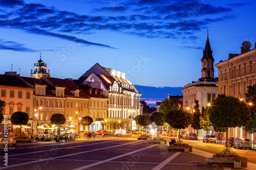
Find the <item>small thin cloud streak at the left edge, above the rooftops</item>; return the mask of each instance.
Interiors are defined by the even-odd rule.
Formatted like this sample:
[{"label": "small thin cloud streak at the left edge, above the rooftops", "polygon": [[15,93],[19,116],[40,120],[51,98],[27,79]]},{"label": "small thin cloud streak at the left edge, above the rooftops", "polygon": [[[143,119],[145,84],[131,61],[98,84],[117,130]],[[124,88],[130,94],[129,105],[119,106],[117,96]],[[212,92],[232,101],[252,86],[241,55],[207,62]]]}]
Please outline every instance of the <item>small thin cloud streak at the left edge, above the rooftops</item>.
[{"label": "small thin cloud streak at the left edge, above the rooftops", "polygon": [[37,52],[36,50],[26,47],[26,44],[21,44],[14,41],[8,41],[5,39],[0,39],[0,49],[12,50],[17,52]]}]

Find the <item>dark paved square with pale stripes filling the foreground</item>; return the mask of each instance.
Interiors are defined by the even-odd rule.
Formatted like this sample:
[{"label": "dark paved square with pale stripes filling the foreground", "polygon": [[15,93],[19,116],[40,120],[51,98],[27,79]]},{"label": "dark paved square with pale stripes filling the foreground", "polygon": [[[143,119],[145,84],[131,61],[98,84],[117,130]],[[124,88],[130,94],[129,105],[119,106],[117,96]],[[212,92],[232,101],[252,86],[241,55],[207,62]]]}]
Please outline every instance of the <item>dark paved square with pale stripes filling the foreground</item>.
[{"label": "dark paved square with pale stripes filling the foreground", "polygon": [[111,137],[18,144],[8,151],[8,166],[0,159],[0,169],[216,169],[207,167],[200,153],[169,152],[166,145]]}]

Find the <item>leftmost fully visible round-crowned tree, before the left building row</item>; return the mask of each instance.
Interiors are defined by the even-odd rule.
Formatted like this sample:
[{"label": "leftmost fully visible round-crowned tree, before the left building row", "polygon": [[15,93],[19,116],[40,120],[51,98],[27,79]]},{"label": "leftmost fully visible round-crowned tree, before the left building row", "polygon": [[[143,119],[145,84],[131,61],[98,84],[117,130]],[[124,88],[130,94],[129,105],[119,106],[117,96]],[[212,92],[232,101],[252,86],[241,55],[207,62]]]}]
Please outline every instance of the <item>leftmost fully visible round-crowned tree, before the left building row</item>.
[{"label": "leftmost fully visible round-crowned tree, before the left building row", "polygon": [[25,112],[14,112],[11,115],[11,123],[13,125],[20,125],[20,136],[22,136],[22,125],[27,125],[29,122],[29,115]]}]

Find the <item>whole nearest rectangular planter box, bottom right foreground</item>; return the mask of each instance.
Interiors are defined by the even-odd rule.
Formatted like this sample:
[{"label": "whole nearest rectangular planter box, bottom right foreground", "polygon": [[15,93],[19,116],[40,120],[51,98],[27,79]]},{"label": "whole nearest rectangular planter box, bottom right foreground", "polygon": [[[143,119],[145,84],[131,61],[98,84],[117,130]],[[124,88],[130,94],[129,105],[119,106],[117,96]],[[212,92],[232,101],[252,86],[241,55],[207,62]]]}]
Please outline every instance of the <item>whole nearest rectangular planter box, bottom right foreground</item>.
[{"label": "whole nearest rectangular planter box, bottom right foreground", "polygon": [[245,157],[217,157],[213,155],[211,159],[206,159],[206,164],[207,162],[218,167],[247,167],[247,158]]}]

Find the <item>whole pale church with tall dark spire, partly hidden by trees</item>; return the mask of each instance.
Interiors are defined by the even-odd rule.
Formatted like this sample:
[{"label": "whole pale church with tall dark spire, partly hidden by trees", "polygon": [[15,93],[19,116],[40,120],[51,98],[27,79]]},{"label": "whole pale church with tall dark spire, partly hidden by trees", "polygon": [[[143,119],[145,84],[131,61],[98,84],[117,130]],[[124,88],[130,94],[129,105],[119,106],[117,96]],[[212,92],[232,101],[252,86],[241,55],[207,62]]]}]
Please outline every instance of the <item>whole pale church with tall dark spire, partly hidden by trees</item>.
[{"label": "whole pale church with tall dark spire, partly hidden by trees", "polygon": [[[214,57],[210,47],[209,38],[207,40],[201,59],[201,78],[198,81],[193,81],[184,86],[183,92],[183,109],[193,114],[195,101],[199,101],[199,108],[206,107],[209,103],[215,100],[218,95],[218,78],[214,77]],[[195,132],[191,126],[187,128],[189,132]],[[199,135],[204,136],[205,131],[201,130]],[[210,131],[213,133],[213,131]]]}]

